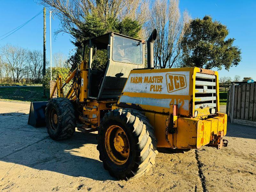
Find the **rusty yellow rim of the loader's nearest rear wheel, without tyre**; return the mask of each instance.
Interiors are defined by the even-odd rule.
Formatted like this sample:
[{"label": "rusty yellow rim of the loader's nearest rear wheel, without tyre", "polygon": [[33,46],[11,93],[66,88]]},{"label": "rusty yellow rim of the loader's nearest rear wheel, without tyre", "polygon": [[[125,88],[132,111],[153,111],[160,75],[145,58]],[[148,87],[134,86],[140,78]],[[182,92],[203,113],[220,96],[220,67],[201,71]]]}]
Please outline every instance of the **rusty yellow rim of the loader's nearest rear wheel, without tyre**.
[{"label": "rusty yellow rim of the loader's nearest rear wheel, without tyre", "polygon": [[115,164],[124,164],[130,154],[129,140],[124,130],[118,125],[108,127],[105,135],[105,146],[109,158]]}]

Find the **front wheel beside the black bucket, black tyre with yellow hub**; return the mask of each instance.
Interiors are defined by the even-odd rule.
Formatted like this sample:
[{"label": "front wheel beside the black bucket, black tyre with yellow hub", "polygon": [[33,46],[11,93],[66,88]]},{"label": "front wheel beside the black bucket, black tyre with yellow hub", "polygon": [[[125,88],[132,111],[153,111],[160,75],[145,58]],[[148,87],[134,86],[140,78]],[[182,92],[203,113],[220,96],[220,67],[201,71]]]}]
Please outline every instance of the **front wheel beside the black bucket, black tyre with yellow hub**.
[{"label": "front wheel beside the black bucket, black tyre with yellow hub", "polygon": [[75,109],[71,101],[67,98],[51,99],[46,107],[45,122],[47,132],[52,139],[71,137],[76,128]]}]

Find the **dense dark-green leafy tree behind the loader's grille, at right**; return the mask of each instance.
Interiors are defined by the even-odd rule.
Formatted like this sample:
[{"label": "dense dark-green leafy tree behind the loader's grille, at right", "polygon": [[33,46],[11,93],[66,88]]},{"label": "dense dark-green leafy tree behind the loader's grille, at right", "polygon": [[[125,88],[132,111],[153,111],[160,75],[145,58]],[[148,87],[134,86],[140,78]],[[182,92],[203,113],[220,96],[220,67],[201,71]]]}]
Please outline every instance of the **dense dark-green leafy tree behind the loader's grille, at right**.
[{"label": "dense dark-green leafy tree behind the loader's grille, at right", "polygon": [[182,67],[228,70],[241,61],[241,50],[228,38],[228,29],[210,16],[192,20],[182,41]]}]

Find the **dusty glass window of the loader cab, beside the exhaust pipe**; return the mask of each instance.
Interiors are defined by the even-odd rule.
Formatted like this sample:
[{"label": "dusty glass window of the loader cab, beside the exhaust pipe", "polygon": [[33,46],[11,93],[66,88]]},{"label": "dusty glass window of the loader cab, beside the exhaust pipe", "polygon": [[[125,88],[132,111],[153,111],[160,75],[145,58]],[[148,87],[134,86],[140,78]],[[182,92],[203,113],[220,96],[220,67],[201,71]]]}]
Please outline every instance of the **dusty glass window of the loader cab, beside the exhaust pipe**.
[{"label": "dusty glass window of the loader cab, beside the exhaust pipe", "polygon": [[142,43],[120,36],[114,36],[112,59],[114,61],[141,65]]}]

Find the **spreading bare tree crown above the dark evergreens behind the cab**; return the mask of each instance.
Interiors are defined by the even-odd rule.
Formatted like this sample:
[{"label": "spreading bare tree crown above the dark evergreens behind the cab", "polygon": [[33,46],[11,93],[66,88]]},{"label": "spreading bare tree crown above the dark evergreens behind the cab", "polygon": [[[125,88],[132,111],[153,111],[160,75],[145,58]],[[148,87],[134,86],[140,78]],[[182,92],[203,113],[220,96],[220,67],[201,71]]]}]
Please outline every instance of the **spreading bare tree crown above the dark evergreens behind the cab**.
[{"label": "spreading bare tree crown above the dark evergreens behind the cab", "polygon": [[70,33],[72,28],[81,28],[89,13],[96,12],[102,21],[109,17],[122,20],[136,19],[144,24],[148,19],[148,0],[37,0],[54,10],[60,19],[61,28],[56,31]]}]

